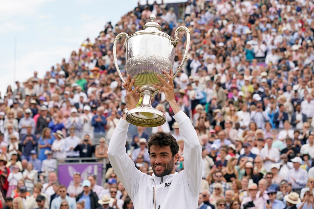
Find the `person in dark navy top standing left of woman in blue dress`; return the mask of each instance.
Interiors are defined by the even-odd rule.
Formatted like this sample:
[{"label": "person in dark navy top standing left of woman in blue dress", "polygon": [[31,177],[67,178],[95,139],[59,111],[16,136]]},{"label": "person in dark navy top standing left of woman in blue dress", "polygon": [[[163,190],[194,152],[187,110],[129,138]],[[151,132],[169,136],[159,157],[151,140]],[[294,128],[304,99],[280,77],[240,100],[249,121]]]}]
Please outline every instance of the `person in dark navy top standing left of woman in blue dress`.
[{"label": "person in dark navy top standing left of woman in blue dress", "polygon": [[22,153],[22,160],[30,160],[30,152],[34,150],[37,146],[37,138],[34,134],[31,133],[32,126],[28,125],[26,128],[26,133],[22,137],[22,145],[24,147],[23,153]]}]

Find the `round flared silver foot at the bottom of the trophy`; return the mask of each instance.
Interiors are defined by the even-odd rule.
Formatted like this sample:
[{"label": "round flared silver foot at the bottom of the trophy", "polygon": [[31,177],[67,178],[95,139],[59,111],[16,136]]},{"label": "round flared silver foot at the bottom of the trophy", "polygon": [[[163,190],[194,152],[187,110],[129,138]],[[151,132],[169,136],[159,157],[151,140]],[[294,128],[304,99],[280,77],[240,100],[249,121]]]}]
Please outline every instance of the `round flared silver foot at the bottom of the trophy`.
[{"label": "round flared silver foot at the bottom of the trophy", "polygon": [[166,122],[163,112],[152,107],[138,107],[127,112],[127,122],[142,127],[161,126]]}]

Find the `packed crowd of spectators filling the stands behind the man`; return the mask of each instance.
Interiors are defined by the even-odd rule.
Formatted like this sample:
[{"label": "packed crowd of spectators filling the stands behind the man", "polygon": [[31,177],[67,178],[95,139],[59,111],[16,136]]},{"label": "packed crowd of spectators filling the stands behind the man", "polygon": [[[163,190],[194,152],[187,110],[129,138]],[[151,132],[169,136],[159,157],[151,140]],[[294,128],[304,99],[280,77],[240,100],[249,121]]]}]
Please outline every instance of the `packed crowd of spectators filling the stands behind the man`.
[{"label": "packed crowd of spectators filling the stands behind the man", "polygon": [[[191,31],[175,94],[202,145],[198,208],[313,208],[310,0],[138,4],[47,72],[35,69],[31,78],[8,86],[0,99],[0,208],[133,208],[107,159],[108,142],[127,107],[114,67],[126,77],[124,38],[117,43],[117,63],[113,40],[120,32],[141,30],[151,13],[171,37],[181,25]],[[184,32],[179,37],[174,71],[185,50]],[[180,147],[180,172],[184,143],[173,112],[161,92],[152,105],[165,113],[166,123],[133,132],[130,126],[127,153],[151,175],[149,135],[171,132]],[[96,184],[99,176],[83,179],[80,173],[73,175],[73,185],[60,185],[58,161],[91,157],[105,159],[105,185]]]}]

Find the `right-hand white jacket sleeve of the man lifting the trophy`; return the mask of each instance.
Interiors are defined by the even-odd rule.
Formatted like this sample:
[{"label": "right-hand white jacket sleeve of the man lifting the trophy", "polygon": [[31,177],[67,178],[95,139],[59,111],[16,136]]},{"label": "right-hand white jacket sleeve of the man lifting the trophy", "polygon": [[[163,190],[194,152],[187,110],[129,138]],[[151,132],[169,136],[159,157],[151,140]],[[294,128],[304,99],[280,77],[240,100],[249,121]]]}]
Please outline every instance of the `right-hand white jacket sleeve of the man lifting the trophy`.
[{"label": "right-hand white jacket sleeve of the man lifting the trophy", "polygon": [[180,135],[184,141],[184,184],[193,196],[198,196],[202,179],[202,147],[190,119],[181,110],[173,118],[178,122]]}]

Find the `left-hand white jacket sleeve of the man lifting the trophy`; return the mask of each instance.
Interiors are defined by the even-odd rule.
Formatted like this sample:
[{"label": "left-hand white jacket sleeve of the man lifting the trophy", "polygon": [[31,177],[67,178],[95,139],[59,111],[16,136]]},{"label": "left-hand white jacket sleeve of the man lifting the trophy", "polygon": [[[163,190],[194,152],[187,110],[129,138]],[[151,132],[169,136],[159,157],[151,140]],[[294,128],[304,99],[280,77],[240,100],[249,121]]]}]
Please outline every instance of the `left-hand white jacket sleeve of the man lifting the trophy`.
[{"label": "left-hand white jacket sleeve of the man lifting the trophy", "polygon": [[122,182],[125,190],[133,199],[137,194],[140,178],[144,175],[136,169],[134,162],[127,155],[125,142],[127,139],[129,123],[121,119],[116,126],[108,147],[108,158],[119,180]]}]

